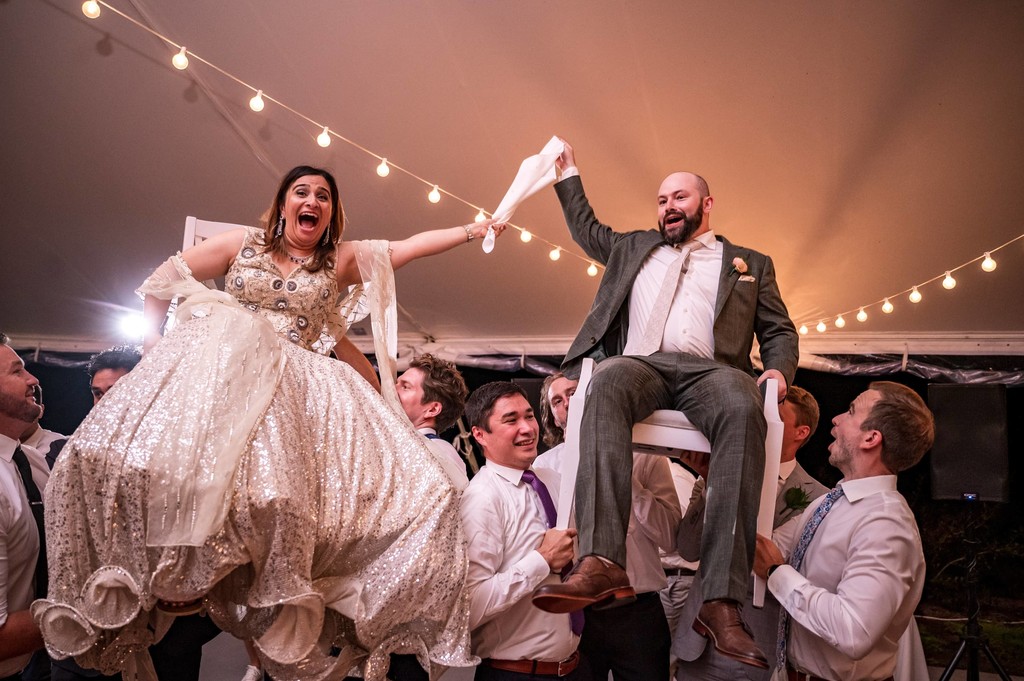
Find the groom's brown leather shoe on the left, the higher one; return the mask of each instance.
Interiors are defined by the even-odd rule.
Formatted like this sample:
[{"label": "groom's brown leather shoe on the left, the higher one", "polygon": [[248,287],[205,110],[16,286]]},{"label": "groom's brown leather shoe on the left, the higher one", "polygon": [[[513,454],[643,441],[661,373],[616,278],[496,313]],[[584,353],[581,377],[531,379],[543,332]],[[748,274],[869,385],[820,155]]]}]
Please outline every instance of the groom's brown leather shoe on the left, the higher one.
[{"label": "groom's brown leather shoe on the left, the higher one", "polygon": [[545,585],[534,593],[534,605],[548,612],[573,612],[588,605],[604,609],[636,599],[626,570],[596,554],[584,556],[561,584]]}]

